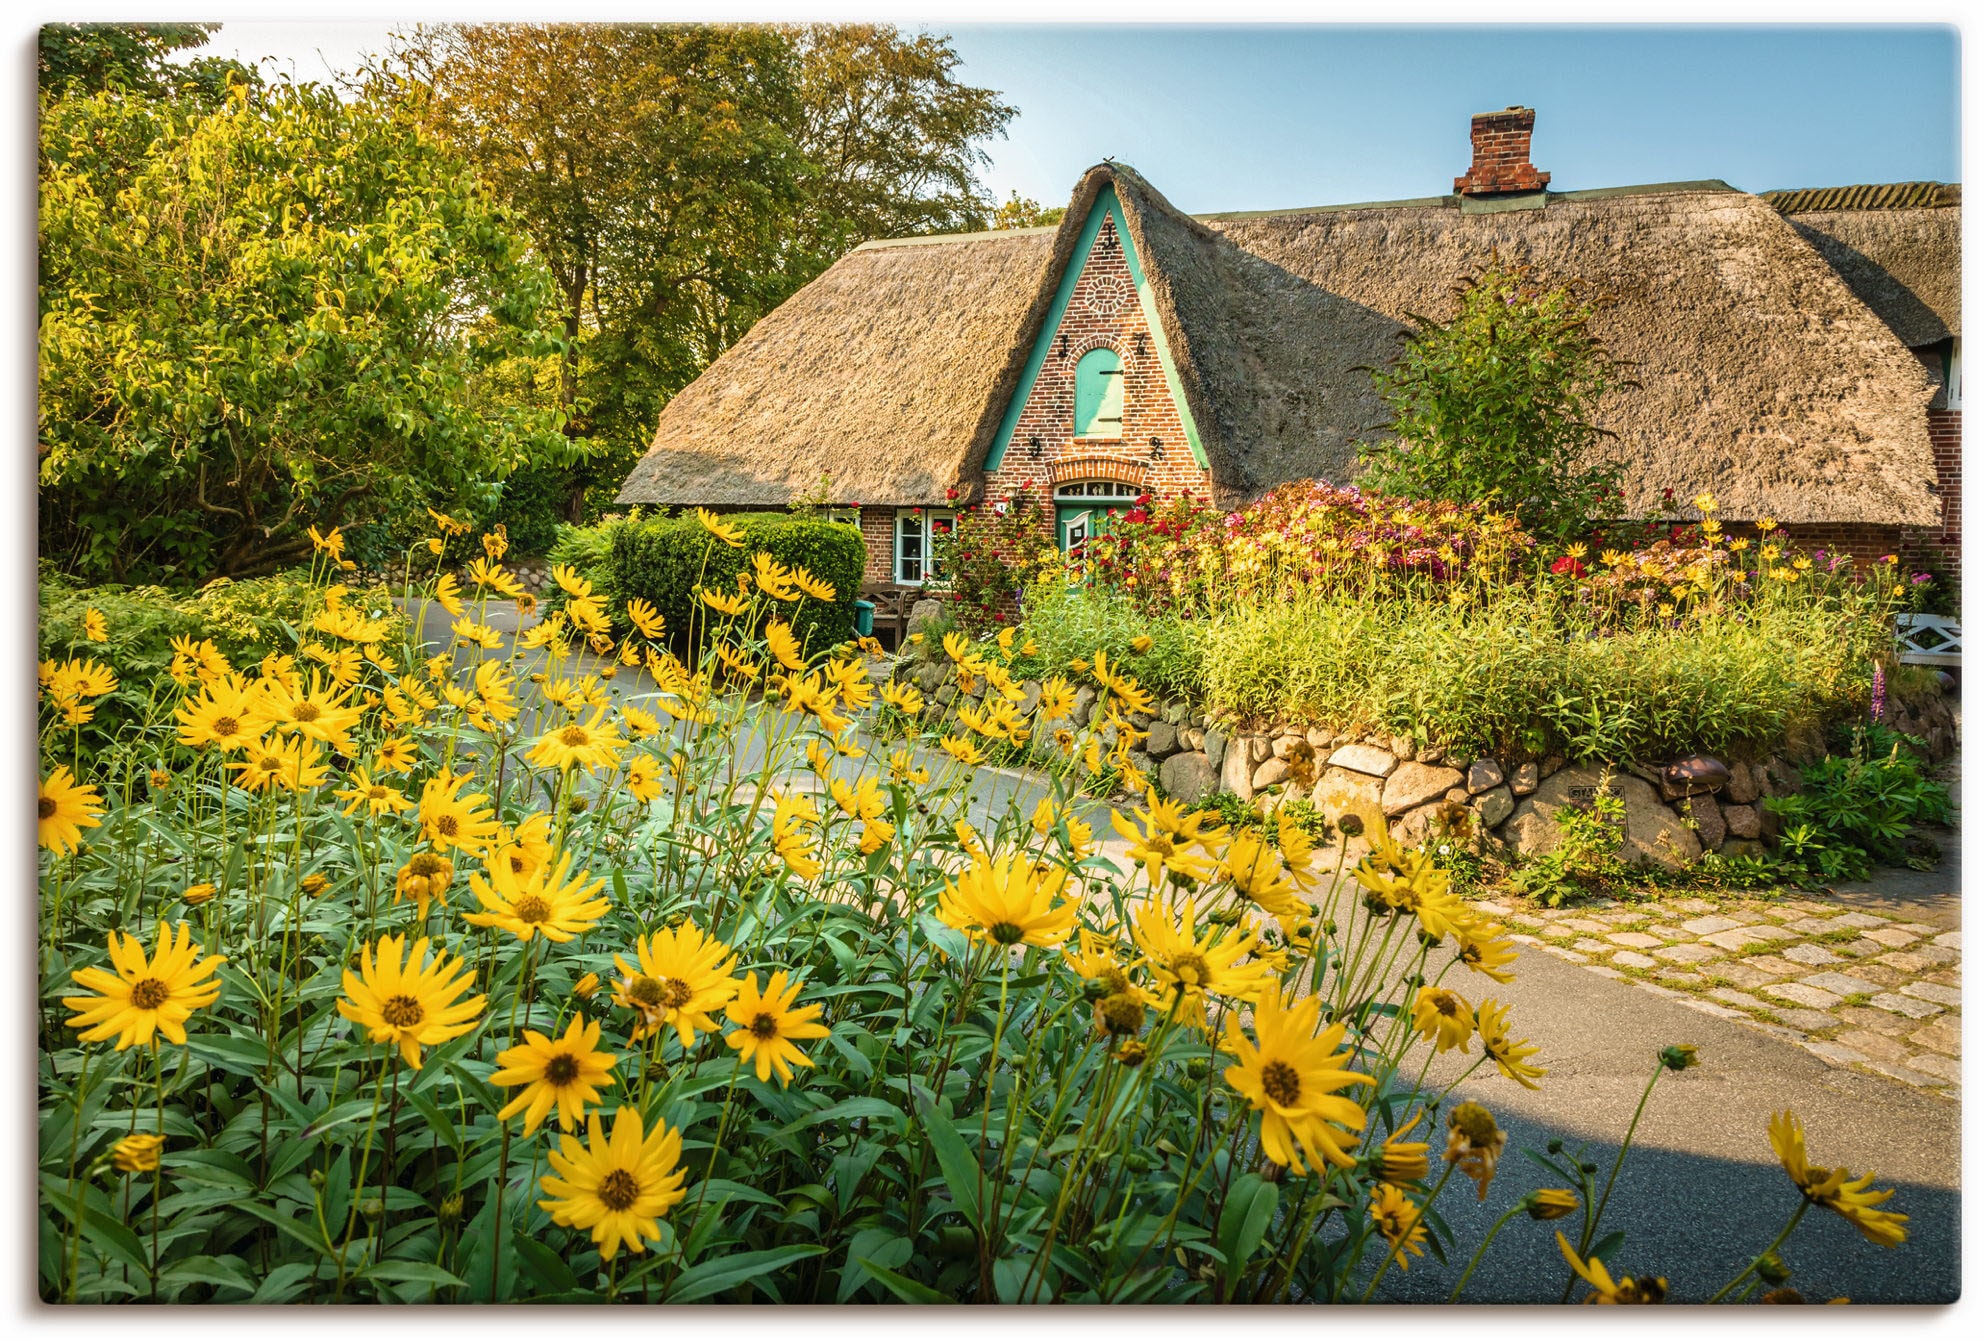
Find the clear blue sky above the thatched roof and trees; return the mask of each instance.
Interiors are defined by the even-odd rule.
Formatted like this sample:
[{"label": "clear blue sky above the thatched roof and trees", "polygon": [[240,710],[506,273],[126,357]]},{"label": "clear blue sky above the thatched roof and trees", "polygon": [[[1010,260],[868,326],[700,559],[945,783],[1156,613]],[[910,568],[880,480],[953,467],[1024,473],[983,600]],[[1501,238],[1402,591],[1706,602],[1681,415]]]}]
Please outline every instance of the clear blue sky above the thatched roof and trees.
[{"label": "clear blue sky above the thatched roof and trees", "polygon": [[[389,28],[228,24],[210,50],[323,77]],[[1538,109],[1532,157],[1559,191],[1960,177],[1954,28],[932,30],[962,77],[1020,107],[986,147],[1000,199],[1063,202],[1103,157],[1192,212],[1442,195],[1468,167],[1468,117],[1510,103]]]}]

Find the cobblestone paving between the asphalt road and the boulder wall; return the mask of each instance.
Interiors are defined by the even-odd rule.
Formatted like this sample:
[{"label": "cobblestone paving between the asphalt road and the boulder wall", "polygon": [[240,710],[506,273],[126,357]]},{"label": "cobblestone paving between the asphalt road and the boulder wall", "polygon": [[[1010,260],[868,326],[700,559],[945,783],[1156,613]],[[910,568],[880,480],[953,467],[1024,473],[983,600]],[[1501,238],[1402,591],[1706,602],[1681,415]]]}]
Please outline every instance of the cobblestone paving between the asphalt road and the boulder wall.
[{"label": "cobblestone paving between the asphalt road and the boulder wall", "polygon": [[1516,941],[1684,1006],[1742,1020],[1841,1068],[1956,1098],[1960,933],[1819,899],[1591,903],[1480,899]]}]

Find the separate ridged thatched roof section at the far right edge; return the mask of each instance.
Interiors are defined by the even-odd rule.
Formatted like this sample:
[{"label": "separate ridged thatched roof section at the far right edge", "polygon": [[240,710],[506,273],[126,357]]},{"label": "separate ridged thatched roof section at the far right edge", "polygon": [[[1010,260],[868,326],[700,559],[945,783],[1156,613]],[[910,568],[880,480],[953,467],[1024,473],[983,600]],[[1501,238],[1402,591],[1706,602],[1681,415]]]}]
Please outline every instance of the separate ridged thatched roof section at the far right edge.
[{"label": "separate ridged thatched roof section at the far right edge", "polygon": [[1962,334],[1962,187],[1887,183],[1766,191],[1770,202],[1909,347]]}]

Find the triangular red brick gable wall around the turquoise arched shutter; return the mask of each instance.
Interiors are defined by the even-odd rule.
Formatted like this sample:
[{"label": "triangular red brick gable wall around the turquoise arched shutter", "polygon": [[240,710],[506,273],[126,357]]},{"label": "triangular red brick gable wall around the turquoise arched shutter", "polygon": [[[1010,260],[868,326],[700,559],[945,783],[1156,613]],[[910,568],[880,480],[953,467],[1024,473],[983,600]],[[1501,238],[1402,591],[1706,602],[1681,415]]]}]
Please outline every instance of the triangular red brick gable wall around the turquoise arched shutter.
[{"label": "triangular red brick gable wall around the turquoise arched shutter", "polygon": [[[1210,496],[1212,476],[1192,461],[1192,449],[1184,441],[1184,421],[1171,399],[1171,387],[1165,385],[1157,341],[1137,302],[1113,218],[1103,220],[1095,234],[1095,246],[1081,278],[1075,280],[1067,312],[1048,337],[1054,345],[1020,409],[1006,459],[998,470],[986,472],[986,502],[1010,498],[1020,490],[1050,502],[1055,484],[1075,480],[1121,480],[1157,498],[1177,498],[1186,490],[1200,498]],[[1077,439],[1075,363],[1101,345],[1115,349],[1123,359],[1123,437]],[[1040,439],[1038,457],[1034,439]],[[1155,463],[1151,439],[1163,445]],[[1052,514],[1050,506],[1050,532]]]}]

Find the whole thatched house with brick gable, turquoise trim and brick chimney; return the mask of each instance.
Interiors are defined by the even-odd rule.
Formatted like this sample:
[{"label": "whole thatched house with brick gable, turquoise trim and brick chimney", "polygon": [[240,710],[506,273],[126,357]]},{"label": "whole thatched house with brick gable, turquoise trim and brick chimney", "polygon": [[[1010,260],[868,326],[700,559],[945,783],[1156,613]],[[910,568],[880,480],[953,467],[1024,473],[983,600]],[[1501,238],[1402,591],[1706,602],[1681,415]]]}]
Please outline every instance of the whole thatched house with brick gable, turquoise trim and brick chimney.
[{"label": "whole thatched house with brick gable, turquoise trim and brick chimney", "polygon": [[[873,576],[915,582],[879,510],[1345,480],[1385,433],[1369,369],[1496,252],[1617,300],[1595,330],[1639,385],[1601,423],[1633,514],[1712,490],[1732,518],[1938,522],[1938,377],[1909,345],[1956,330],[1954,208],[1786,210],[1720,181],[1508,191],[1548,181],[1522,117],[1476,119],[1456,195],[1186,216],[1103,163],[1057,228],[863,244],[667,405],[621,502],[778,506],[825,472],[877,546],[895,532]],[[1494,119],[1518,123],[1514,157]]]}]

